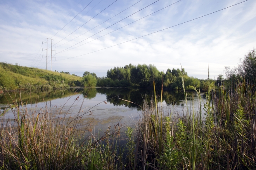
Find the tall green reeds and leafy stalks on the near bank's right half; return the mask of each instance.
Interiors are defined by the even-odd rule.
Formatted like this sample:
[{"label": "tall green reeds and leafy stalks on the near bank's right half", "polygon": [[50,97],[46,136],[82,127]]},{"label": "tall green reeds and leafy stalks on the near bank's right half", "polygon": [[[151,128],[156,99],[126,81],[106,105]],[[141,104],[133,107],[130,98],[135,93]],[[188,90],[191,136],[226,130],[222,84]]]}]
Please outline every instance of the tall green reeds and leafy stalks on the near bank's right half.
[{"label": "tall green reeds and leafy stalks on the near bank's right half", "polygon": [[[208,79],[209,80],[209,79]],[[138,169],[256,168],[256,92],[246,81],[231,91],[208,81],[206,100],[199,89],[199,108],[187,105],[183,114],[164,110],[156,99],[144,102],[137,124]],[[218,93],[216,93],[216,91]],[[146,101],[146,100],[145,100]],[[201,102],[204,102],[201,106]],[[156,109],[157,108],[157,109]]]}]

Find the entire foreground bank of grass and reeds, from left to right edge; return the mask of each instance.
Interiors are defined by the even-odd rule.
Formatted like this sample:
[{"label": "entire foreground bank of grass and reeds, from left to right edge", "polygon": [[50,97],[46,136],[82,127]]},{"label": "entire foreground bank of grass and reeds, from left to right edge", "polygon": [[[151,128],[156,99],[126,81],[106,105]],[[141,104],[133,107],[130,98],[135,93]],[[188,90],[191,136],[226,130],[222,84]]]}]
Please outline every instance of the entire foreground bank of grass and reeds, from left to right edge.
[{"label": "entire foreground bank of grass and reeds, from left to right edge", "polygon": [[[127,128],[126,144],[123,145],[121,129],[124,126],[121,124],[97,135],[92,122],[83,124],[81,117],[90,110],[83,114],[79,111],[75,119],[70,119],[61,109],[52,113],[47,108],[40,112],[36,109],[28,111],[22,102],[13,101],[15,109],[12,111],[16,118],[3,121],[0,128],[0,167],[255,169],[254,86],[243,81],[230,90],[224,84],[217,87],[216,93],[214,83],[209,80],[206,100],[203,106],[195,108],[194,105],[186,105],[187,95],[182,81],[185,95],[183,112],[165,109],[155,92],[150,103],[144,99],[141,118],[135,129]],[[200,90],[190,88],[194,88],[199,102],[203,102]],[[57,118],[53,119],[52,115],[57,115]]]}]

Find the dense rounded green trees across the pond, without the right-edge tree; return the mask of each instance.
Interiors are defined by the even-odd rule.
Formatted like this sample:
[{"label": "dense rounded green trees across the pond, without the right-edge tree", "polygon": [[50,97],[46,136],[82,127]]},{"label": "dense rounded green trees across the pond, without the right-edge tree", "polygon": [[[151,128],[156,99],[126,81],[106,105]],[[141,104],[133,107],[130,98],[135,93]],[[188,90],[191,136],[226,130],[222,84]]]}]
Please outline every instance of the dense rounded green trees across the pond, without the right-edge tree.
[{"label": "dense rounded green trees across the pond, without the right-edge tree", "polygon": [[125,65],[123,67],[114,67],[107,70],[107,75],[97,77],[95,73],[85,71],[82,83],[85,87],[153,87],[153,80],[156,87],[161,88],[162,82],[164,88],[173,90],[182,89],[182,77],[185,80],[185,88],[194,86],[204,90],[206,87],[205,80],[199,80],[187,75],[184,68],[168,69],[165,73],[157,70],[154,65]]}]

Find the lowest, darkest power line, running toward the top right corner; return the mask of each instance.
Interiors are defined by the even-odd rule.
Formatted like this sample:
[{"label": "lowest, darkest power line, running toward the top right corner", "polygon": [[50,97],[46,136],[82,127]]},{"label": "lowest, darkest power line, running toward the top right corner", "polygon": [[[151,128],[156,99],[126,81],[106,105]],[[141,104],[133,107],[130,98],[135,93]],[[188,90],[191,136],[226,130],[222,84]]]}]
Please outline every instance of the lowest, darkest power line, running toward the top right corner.
[{"label": "lowest, darkest power line, running toward the top right corner", "polygon": [[[246,2],[246,1],[248,1],[248,0],[245,0],[245,1],[243,1],[243,2]],[[235,5],[238,5],[238,4],[243,3],[243,2],[236,3]],[[235,5],[231,5],[231,6],[229,6],[229,7],[223,8],[223,9],[221,9],[221,10],[224,10],[224,9],[227,9],[227,8],[230,8],[230,7],[233,7],[233,6],[235,6]],[[217,10],[217,11],[215,11],[215,12],[211,12],[211,13],[209,13],[209,14],[203,15],[203,16],[201,16],[201,17],[197,17],[197,18],[192,19],[192,20],[196,20],[196,19],[205,17],[205,16],[207,16],[207,15],[211,15],[211,14],[216,13],[216,12],[219,12],[219,11],[221,11],[221,10]],[[179,26],[179,25],[181,25],[181,24],[185,24],[185,23],[190,22],[190,21],[192,21],[192,20],[188,20],[188,21],[186,21],[186,22],[182,22],[182,23],[177,24],[177,25],[175,25],[175,26]],[[156,31],[156,32],[164,31],[164,30],[166,30],[166,29],[169,29],[169,28],[172,28],[172,27],[175,27],[175,26],[171,26],[171,27],[168,27],[168,28],[165,28],[165,29],[161,29],[161,30]],[[156,32],[152,32],[152,33],[150,33],[150,34],[154,34],[154,33],[156,33]],[[150,35],[150,34],[147,34],[147,35],[144,35],[144,36],[140,36],[140,37],[137,37],[137,38],[135,38],[135,39],[139,39],[139,38],[141,38],[141,37],[145,37],[145,36],[148,36],[148,35]],[[135,40],[135,39],[131,39],[131,40],[129,40],[129,41],[133,41],[133,40]],[[125,41],[125,42],[129,42],[129,41]],[[114,45],[114,46],[118,46],[118,45],[120,45],[120,44],[124,44],[125,42],[121,42],[121,43],[116,44],[116,45]],[[109,47],[107,47],[107,48],[111,48],[111,47],[114,47],[114,46],[109,46]],[[99,49],[99,50],[97,50],[97,51],[101,51],[101,50],[104,50],[104,49],[107,49],[107,48]],[[97,51],[93,51],[93,52],[91,52],[91,53],[95,53],[95,52],[97,52]],[[91,53],[86,53],[86,54],[82,54],[82,55],[75,56],[75,57],[70,57],[70,58],[76,58],[76,57],[84,56],[84,55],[91,54]],[[65,59],[70,59],[70,58],[65,58]],[[64,59],[59,59],[59,60],[64,60]]]}]

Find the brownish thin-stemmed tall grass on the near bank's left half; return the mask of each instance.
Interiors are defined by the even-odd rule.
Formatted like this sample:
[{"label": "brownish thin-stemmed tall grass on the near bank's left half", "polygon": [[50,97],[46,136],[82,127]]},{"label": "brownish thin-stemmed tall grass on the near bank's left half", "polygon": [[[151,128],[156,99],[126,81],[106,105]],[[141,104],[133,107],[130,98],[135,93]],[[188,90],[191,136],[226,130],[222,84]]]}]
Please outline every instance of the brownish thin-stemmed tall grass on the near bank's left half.
[{"label": "brownish thin-stemmed tall grass on the near bank's left half", "polygon": [[[10,105],[14,119],[2,119],[0,126],[1,169],[97,170],[131,166],[134,155],[131,128],[126,132],[128,144],[119,146],[124,126],[118,123],[102,134],[95,134],[93,122],[83,119],[90,109],[71,119],[68,111],[64,113],[61,108],[45,106],[29,110],[21,98],[17,101]],[[130,156],[124,155],[127,150]]]}]

